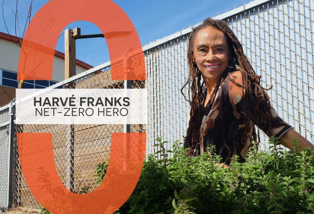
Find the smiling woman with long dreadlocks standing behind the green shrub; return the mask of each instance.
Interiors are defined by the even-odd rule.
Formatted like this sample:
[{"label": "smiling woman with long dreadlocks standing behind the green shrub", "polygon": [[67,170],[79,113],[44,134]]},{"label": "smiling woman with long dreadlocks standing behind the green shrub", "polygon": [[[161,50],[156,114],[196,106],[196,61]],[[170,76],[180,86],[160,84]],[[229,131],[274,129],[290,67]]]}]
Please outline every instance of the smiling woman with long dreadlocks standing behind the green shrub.
[{"label": "smiling woman with long dreadlocks standing behind the green shrub", "polygon": [[301,149],[314,148],[272,108],[264,91],[272,87],[261,87],[261,76],[255,73],[225,21],[207,18],[192,29],[187,61],[190,72],[181,93],[188,85],[192,95],[189,92],[190,120],[184,137],[184,148],[190,148],[188,156],[202,154],[213,144],[227,165],[235,154],[243,163],[251,142],[257,141],[254,125],[269,137],[279,137],[289,149],[293,138],[301,140]]}]

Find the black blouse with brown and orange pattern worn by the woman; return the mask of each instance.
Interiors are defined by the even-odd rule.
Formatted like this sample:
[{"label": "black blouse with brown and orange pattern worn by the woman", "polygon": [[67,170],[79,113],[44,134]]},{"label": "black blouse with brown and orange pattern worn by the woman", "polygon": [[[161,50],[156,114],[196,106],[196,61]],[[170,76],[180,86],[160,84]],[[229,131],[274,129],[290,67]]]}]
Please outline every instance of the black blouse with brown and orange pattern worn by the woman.
[{"label": "black blouse with brown and orange pattern worn by the woman", "polygon": [[[242,88],[241,86],[236,85],[234,82],[242,85],[242,76],[241,70],[237,67],[237,71],[231,72],[226,78],[225,82],[221,85],[225,87],[224,94],[222,94],[221,87],[219,86],[215,96],[214,101],[210,101],[203,110],[203,120],[200,128],[200,154],[204,152],[206,147],[209,147],[210,144],[215,145],[216,153],[221,155],[222,161],[226,164],[230,163],[230,159],[233,155],[229,155],[227,148],[223,143],[223,127],[221,121],[221,114],[223,114],[223,120],[225,124],[225,140],[227,145],[235,145],[236,142],[241,142],[241,137],[245,131],[245,114],[244,114],[244,101],[242,98]],[[204,93],[207,94],[207,90],[204,90]],[[204,94],[204,100],[206,99],[206,94]],[[223,104],[222,112],[220,112],[220,105]],[[268,125],[263,124],[261,121],[255,121],[255,124],[262,130],[264,133],[270,137],[274,135],[275,137],[282,136],[286,131],[292,129],[284,120],[282,120],[276,111],[272,108],[272,124],[269,132],[267,131]],[[252,113],[253,114],[253,113]],[[254,115],[248,115],[250,119],[250,129],[253,130]],[[246,145],[245,148],[238,153],[241,163],[245,162],[248,148],[252,142],[252,131],[251,134],[246,135]],[[185,146],[186,147],[186,146]]]}]

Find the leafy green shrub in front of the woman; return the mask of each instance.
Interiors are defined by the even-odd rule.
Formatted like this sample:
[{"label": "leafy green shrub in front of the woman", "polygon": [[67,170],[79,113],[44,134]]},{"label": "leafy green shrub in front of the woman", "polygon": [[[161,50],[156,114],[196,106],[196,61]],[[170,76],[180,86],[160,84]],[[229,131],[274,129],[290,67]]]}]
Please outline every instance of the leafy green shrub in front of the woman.
[{"label": "leafy green shrub in front of the woman", "polygon": [[[252,142],[246,163],[235,156],[229,169],[218,169],[214,147],[192,158],[178,141],[171,151],[156,140],[160,150],[144,161],[132,195],[115,213],[314,213],[314,160],[310,148],[297,152],[297,139],[290,151],[274,137],[270,152]],[[108,161],[95,170],[99,184],[107,167]]]}]

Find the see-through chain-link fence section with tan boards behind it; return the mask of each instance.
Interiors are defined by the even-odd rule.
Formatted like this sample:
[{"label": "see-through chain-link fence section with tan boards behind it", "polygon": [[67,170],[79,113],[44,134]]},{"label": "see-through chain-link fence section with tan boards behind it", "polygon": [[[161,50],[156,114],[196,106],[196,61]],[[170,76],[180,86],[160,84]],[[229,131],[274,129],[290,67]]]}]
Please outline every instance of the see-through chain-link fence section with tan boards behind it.
[{"label": "see-through chain-link fence section with tan boards behind it", "polygon": [[[122,64],[121,64],[122,65]],[[115,65],[119,66],[119,64]],[[96,70],[96,69],[94,69]],[[111,80],[111,67],[96,71],[62,84],[66,88],[144,88],[144,81]],[[60,84],[59,84],[60,85]],[[56,85],[51,88],[61,88]],[[129,127],[124,127],[129,126]],[[145,125],[17,125],[17,132],[51,132],[57,172],[62,184],[71,191],[83,187],[97,188],[94,177],[96,166],[109,158],[112,132],[145,132]],[[125,129],[128,129],[125,131]],[[16,197],[17,205],[39,207],[23,177],[17,153]]]}]

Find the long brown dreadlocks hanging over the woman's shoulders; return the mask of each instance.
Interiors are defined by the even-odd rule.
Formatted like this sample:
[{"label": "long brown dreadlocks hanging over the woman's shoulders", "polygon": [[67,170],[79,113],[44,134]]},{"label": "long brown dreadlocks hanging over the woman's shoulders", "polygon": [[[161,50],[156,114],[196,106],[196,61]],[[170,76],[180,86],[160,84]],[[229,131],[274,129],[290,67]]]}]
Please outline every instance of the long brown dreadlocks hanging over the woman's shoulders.
[{"label": "long brown dreadlocks hanging over the woman's shoulders", "polygon": [[[212,26],[216,29],[221,30],[228,43],[228,48],[230,50],[230,56],[234,59],[232,67],[236,67],[236,65],[239,65],[237,67],[237,70],[241,70],[242,73],[242,84],[238,84],[231,80],[236,85],[242,87],[243,92],[243,99],[244,99],[244,113],[245,115],[249,115],[250,109],[248,106],[253,106],[251,113],[254,114],[254,120],[257,121],[260,120],[263,124],[271,124],[271,105],[268,95],[264,90],[269,90],[272,88],[272,86],[268,89],[263,88],[260,85],[260,79],[262,76],[257,75],[251,66],[249,60],[247,59],[246,55],[243,52],[242,45],[237,39],[236,35],[232,32],[232,30],[229,28],[228,24],[224,20],[216,20],[207,18],[203,21],[202,24],[198,25],[195,28],[192,28],[192,32],[189,35],[189,44],[188,44],[188,50],[187,50],[187,61],[189,65],[189,76],[187,79],[187,82],[183,85],[181,88],[181,93],[183,94],[184,98],[190,103],[190,120],[189,120],[189,126],[187,128],[187,136],[184,137],[184,144],[190,147],[190,150],[187,152],[187,155],[192,155],[193,150],[196,146],[196,143],[200,144],[200,126],[202,122],[202,110],[203,110],[203,85],[204,81],[201,84],[202,79],[202,73],[198,69],[196,63],[193,63],[193,45],[194,45],[194,38],[195,35],[198,33],[200,29],[203,29],[205,27]],[[228,77],[230,74],[230,71],[224,72],[221,77],[221,81],[218,84],[222,84],[224,80]],[[186,98],[185,94],[182,92],[185,86],[188,85],[188,99]],[[221,87],[222,90],[224,90],[224,87]],[[192,97],[190,95],[190,92],[192,94]],[[224,92],[223,92],[224,93]],[[192,98],[192,99],[190,99]],[[248,103],[248,100],[250,100],[251,103]],[[262,105],[265,104],[265,105]],[[220,112],[222,112],[222,104]],[[221,119],[223,122],[223,115],[221,115]],[[223,126],[223,142],[225,144],[225,147],[228,149],[228,152],[230,155],[232,155],[234,152],[240,152],[245,145],[246,135],[251,135],[252,139],[254,141],[260,142],[259,138],[259,129],[258,129],[258,135],[256,135],[255,126],[253,126],[252,134],[250,133],[251,130],[249,130],[249,123],[250,119],[245,118],[245,131],[244,135],[241,137],[241,141],[237,142],[237,145],[227,145],[225,141],[225,125]],[[268,126],[268,131],[270,130],[270,126]],[[268,132],[267,131],[267,132]],[[234,148],[234,149],[231,149]]]}]

